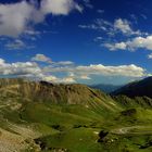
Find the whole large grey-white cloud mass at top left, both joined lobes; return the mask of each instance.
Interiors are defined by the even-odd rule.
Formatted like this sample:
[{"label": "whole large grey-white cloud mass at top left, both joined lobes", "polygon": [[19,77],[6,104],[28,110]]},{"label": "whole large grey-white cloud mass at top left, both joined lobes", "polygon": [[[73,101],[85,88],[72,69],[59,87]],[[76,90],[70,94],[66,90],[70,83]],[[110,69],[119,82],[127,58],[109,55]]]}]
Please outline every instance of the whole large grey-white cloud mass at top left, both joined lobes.
[{"label": "whole large grey-white cloud mass at top left, both joined lobes", "polygon": [[25,0],[0,4],[0,36],[18,37],[33,25],[43,22],[46,15],[67,15],[73,10],[83,11],[74,0],[42,0],[39,9]]}]

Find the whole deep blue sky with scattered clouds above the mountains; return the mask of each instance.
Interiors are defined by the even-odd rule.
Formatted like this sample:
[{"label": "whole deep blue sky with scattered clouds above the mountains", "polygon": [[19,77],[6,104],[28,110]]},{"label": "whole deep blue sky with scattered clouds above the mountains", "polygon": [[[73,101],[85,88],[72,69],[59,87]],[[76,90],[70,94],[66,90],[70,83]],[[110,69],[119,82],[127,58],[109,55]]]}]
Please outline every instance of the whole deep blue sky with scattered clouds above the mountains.
[{"label": "whole deep blue sky with scattered clouds above the mountains", "polygon": [[0,0],[0,77],[123,85],[152,73],[151,0]]}]

